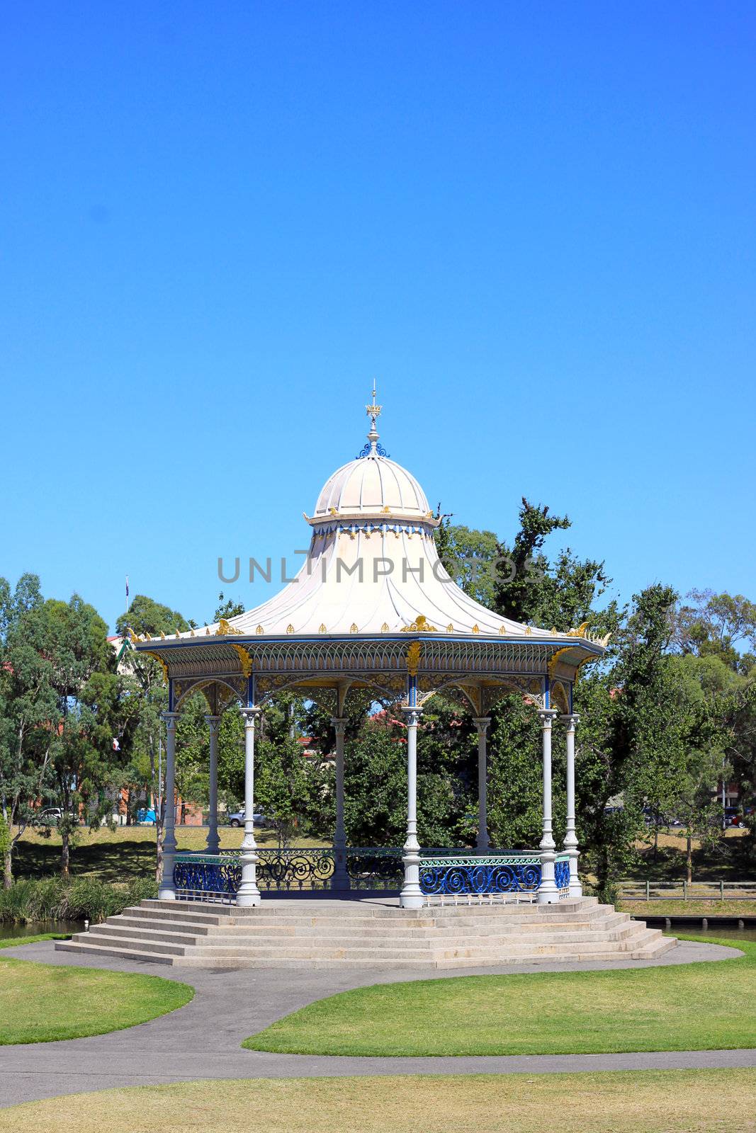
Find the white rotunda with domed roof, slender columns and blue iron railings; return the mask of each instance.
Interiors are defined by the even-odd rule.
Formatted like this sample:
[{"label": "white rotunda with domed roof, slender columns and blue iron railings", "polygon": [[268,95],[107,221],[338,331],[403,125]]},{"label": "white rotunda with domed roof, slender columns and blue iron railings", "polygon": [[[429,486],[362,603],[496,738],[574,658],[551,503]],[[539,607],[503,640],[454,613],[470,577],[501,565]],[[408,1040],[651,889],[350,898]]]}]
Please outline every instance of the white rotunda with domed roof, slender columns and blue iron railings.
[{"label": "white rotunda with domed roof, slender columns and blue iron railings", "polygon": [[[540,903],[579,896],[575,830],[575,726],[572,684],[580,665],[600,657],[605,640],[587,624],[567,633],[501,617],[470,598],[439,559],[434,534],[440,519],[401,465],[380,444],[381,407],[366,407],[367,443],[359,455],[326,480],[312,516],[311,544],[296,578],[267,602],[216,624],[173,637],[131,644],[162,665],[169,688],[167,798],[175,790],[176,718],[186,699],[201,691],[209,706],[210,833],[207,852],[178,854],[172,808],[165,821],[160,896],[229,896],[239,905],[261,901],[258,879],[287,885],[322,880],[345,892],[365,876],[385,879],[400,871],[400,903],[419,908],[438,893],[491,895],[532,893]],[[407,724],[407,836],[393,859],[382,847],[348,847],[343,827],[345,698],[350,689],[373,689],[399,706]],[[277,692],[297,689],[330,701],[335,731],[337,821],[332,847],[313,864],[279,853],[266,861],[255,843],[255,721]],[[492,851],[486,828],[487,712],[516,691],[527,697],[542,723],[543,836],[529,854]],[[417,729],[433,693],[453,696],[473,713],[478,732],[478,835],[475,853],[424,853],[417,841]],[[219,852],[218,722],[233,702],[245,716],[245,834],[238,858]],[[557,853],[551,816],[551,730],[567,727],[567,837]],[[269,854],[270,857],[270,854]],[[385,861],[389,860],[387,869]]]}]

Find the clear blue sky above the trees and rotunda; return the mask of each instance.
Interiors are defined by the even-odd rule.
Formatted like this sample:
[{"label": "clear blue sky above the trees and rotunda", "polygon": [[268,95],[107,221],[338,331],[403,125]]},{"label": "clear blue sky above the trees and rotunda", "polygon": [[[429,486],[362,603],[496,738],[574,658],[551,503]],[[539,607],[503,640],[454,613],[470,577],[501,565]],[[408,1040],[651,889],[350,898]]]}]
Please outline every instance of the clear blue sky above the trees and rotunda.
[{"label": "clear blue sky above the trees and rotunda", "polygon": [[0,573],[209,619],[376,377],[457,521],[525,494],[622,597],[756,597],[755,41],[737,2],[7,8]]}]

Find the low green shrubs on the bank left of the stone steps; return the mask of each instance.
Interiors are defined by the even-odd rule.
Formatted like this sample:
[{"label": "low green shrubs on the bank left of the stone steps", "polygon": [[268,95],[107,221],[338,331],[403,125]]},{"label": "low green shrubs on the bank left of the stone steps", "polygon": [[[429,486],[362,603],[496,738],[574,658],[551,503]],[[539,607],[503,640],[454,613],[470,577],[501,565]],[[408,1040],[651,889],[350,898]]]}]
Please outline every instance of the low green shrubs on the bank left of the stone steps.
[{"label": "low green shrubs on the bank left of the stone steps", "polygon": [[110,885],[95,877],[22,879],[14,881],[9,889],[0,889],[0,923],[102,921],[156,895],[156,885],[148,878],[137,878],[126,885]]}]

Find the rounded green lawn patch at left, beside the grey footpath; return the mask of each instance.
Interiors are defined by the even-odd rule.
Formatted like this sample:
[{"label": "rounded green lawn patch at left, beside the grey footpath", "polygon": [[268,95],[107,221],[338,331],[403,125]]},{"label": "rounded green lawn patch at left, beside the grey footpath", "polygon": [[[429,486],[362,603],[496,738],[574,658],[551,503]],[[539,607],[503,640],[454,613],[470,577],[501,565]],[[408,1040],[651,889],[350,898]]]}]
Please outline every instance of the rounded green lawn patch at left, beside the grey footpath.
[{"label": "rounded green lawn patch at left, beside the grey footpath", "polygon": [[176,1011],[193,996],[186,983],[158,976],[0,959],[0,1046],[120,1031]]}]

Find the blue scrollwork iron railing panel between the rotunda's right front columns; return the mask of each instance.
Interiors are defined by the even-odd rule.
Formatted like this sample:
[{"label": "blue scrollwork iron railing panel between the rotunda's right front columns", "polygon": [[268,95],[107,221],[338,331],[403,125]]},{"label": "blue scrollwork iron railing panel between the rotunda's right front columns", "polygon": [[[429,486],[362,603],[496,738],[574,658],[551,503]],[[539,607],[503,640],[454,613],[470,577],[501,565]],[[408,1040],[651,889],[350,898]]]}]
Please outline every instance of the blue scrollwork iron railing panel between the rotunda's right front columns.
[{"label": "blue scrollwork iron railing panel between the rotunda's right front columns", "polygon": [[541,858],[523,854],[459,854],[421,860],[427,896],[470,893],[533,893],[541,885]]}]

